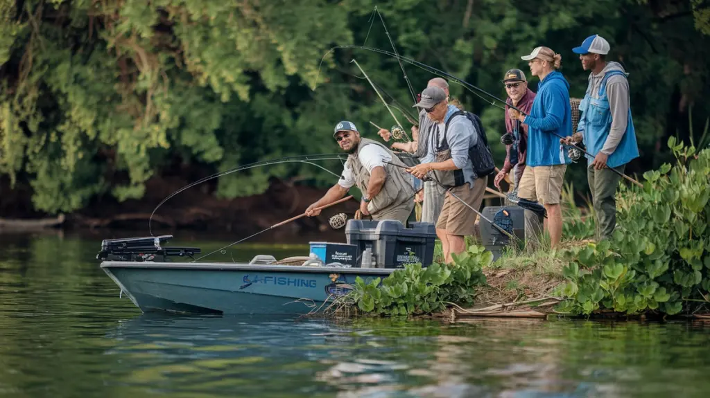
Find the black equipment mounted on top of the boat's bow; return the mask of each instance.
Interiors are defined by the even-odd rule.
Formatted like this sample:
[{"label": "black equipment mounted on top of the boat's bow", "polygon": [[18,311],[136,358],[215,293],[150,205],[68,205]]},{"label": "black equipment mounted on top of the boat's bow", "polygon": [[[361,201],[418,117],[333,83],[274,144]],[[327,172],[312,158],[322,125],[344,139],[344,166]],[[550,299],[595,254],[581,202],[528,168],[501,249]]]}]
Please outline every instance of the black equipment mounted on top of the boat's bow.
[{"label": "black equipment mounted on top of the boat's bow", "polygon": [[96,258],[101,261],[156,261],[168,262],[169,257],[194,258],[200,254],[197,247],[168,247],[173,235],[160,235],[159,237],[138,237],[121,239],[104,239],[101,242],[101,251]]}]

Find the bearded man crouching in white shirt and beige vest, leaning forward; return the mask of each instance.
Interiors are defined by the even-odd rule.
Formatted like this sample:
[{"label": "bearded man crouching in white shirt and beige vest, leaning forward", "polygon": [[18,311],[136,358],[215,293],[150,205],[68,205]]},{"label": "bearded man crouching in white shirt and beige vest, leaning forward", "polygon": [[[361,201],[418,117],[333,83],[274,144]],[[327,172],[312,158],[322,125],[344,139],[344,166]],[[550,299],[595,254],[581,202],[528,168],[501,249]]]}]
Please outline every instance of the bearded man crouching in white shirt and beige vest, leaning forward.
[{"label": "bearded man crouching in white shirt and beige vest, leaning forward", "polygon": [[[348,154],[337,184],[322,198],[308,206],[305,214],[320,214],[316,207],[343,198],[357,186],[362,193],[360,211],[373,220],[399,220],[406,226],[414,210],[414,183],[405,171],[406,165],[380,142],[360,137],[354,123],[346,120],[335,126],[333,137],[340,149]],[[394,166],[393,164],[399,166]]]}]

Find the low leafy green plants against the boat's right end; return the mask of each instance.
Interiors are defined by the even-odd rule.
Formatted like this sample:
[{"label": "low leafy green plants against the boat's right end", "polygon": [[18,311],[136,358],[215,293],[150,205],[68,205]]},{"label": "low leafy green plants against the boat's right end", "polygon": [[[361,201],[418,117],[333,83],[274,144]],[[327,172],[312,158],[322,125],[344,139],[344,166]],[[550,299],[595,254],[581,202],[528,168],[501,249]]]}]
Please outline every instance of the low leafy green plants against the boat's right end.
[{"label": "low leafy green plants against the boat's right end", "polygon": [[391,317],[430,314],[445,309],[447,302],[471,305],[476,287],[486,284],[482,268],[493,262],[493,254],[481,246],[469,246],[454,263],[407,264],[383,280],[365,283],[356,278],[354,290],[344,299],[356,303],[362,312]]}]

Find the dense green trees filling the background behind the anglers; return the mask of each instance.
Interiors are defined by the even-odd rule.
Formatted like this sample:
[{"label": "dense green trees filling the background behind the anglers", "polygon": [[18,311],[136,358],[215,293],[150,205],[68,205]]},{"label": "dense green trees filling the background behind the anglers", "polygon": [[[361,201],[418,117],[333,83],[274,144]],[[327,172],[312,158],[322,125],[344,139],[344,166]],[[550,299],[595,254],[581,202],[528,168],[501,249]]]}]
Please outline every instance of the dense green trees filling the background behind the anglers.
[{"label": "dense green trees filling the background behind the anglers", "polygon": [[[176,161],[222,171],[291,154],[337,152],[332,128],[394,124],[351,59],[388,101],[413,104],[370,0],[0,0],[0,175],[28,183],[40,211],[70,212],[102,195],[141,198]],[[396,0],[381,13],[400,53],[504,98],[503,73],[536,45],[562,54],[571,95],[588,72],[572,47],[599,33],[630,72],[642,159],[658,166],[669,135],[701,144],[710,115],[710,10],[701,0]],[[326,55],[327,54],[327,55]],[[326,55],[321,64],[322,57]],[[431,72],[403,64],[416,92]],[[454,84],[481,115],[503,163],[503,111]],[[484,96],[485,97],[485,96]],[[399,112],[399,111],[398,111]],[[400,118],[400,115],[398,115]],[[400,118],[400,121],[405,118]],[[405,124],[408,129],[409,125]],[[705,137],[707,137],[705,135]],[[705,142],[707,144],[707,142]],[[584,166],[567,176],[586,186]],[[260,193],[269,176],[333,182],[283,164],[219,179],[217,195]]]}]

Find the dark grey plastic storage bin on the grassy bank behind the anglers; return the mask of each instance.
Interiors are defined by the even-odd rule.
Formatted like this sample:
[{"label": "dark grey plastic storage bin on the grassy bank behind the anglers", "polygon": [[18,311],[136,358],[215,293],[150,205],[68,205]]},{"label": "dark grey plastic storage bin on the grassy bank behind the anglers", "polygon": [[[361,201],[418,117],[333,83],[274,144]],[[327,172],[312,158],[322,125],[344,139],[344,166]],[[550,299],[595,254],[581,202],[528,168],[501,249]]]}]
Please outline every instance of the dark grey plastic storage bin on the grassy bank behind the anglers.
[{"label": "dark grey plastic storage bin on the grassy bank behind the anglers", "polygon": [[[542,231],[542,216],[523,207],[488,206],[484,207],[481,214],[521,241],[537,239]],[[479,228],[486,250],[493,252],[493,260],[498,259],[503,248],[510,244],[510,238],[486,220],[479,221]]]}]

